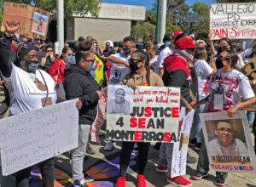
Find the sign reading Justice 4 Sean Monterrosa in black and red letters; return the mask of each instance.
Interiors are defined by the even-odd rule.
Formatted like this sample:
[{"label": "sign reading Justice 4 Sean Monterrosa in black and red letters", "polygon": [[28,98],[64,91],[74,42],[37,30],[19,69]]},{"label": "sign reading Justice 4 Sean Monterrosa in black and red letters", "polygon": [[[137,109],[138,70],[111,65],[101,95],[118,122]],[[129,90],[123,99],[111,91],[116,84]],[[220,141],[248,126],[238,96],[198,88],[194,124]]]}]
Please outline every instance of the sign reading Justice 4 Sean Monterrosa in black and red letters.
[{"label": "sign reading Justice 4 Sean Monterrosa in black and red letters", "polygon": [[107,139],[177,142],[180,89],[108,86]]}]

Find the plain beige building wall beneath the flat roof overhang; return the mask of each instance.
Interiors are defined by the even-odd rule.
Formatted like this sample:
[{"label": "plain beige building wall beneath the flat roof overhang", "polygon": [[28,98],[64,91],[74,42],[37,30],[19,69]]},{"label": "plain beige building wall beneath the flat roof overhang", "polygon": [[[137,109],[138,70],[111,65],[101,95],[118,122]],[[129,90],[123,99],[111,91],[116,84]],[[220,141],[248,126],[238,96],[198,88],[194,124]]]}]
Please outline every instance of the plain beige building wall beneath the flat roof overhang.
[{"label": "plain beige building wall beneath the flat roof overhang", "polygon": [[[122,41],[131,35],[131,20],[108,20],[94,18],[74,18],[74,40],[92,36],[99,43],[106,40]],[[67,27],[67,33],[69,32]],[[71,34],[67,34],[69,36]]]}]

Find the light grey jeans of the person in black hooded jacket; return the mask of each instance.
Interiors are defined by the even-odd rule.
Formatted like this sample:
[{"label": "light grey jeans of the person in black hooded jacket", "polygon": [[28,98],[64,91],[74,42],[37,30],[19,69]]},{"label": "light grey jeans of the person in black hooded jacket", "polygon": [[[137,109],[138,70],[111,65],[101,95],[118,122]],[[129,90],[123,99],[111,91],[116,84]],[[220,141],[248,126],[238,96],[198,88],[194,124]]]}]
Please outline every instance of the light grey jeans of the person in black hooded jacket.
[{"label": "light grey jeans of the person in black hooded jacket", "polygon": [[79,125],[79,146],[71,151],[71,169],[73,180],[84,178],[83,166],[90,125]]}]

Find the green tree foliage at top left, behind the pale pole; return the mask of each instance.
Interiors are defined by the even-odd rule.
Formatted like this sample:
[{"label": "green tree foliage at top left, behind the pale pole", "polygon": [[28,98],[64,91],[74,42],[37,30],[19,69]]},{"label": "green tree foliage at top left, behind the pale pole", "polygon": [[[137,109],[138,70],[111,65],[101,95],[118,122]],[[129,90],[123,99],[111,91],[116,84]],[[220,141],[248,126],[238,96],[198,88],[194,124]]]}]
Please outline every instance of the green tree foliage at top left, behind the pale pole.
[{"label": "green tree foliage at top left, behind the pale pole", "polygon": [[[31,4],[32,0],[6,0],[6,2]],[[33,0],[34,6],[56,14],[57,0]],[[64,14],[67,18],[72,14],[85,15],[87,13],[97,16],[102,0],[64,0]]]}]

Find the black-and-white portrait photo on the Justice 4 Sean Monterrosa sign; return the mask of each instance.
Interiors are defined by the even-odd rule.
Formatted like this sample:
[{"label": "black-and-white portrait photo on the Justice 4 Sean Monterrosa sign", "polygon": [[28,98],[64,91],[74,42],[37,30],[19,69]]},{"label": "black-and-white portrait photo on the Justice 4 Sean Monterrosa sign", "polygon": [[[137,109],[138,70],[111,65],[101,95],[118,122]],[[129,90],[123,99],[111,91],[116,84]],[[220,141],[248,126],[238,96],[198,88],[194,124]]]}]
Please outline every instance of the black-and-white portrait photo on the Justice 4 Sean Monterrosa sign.
[{"label": "black-and-white portrait photo on the Justice 4 Sean Monterrosa sign", "polygon": [[108,114],[130,115],[131,88],[108,88]]}]

